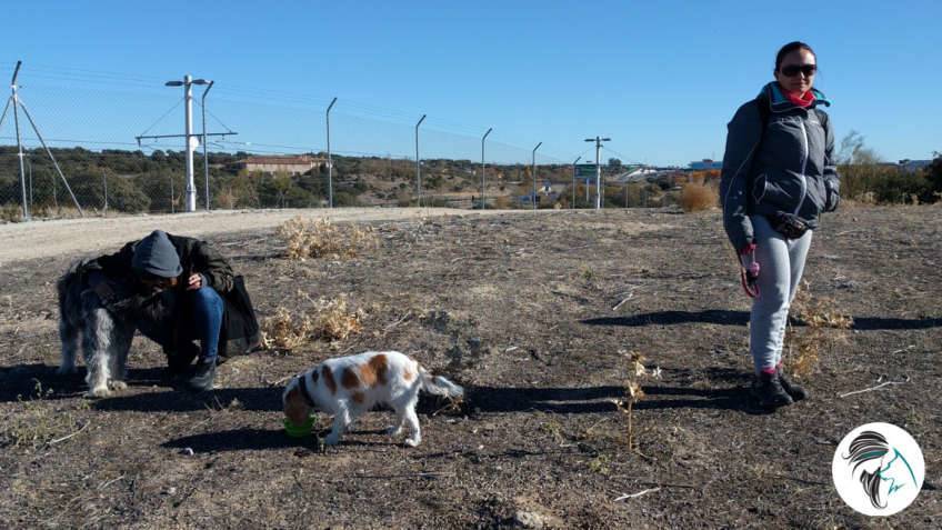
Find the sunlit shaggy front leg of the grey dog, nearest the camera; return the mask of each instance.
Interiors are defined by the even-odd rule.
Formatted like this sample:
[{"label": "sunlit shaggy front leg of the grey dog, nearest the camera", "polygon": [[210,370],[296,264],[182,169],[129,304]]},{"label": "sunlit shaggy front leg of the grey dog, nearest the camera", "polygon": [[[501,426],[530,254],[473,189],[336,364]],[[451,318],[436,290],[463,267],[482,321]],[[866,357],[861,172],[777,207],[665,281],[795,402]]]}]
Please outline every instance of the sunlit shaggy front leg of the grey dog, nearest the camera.
[{"label": "sunlit shaggy front leg of the grey dog, nearest the camera", "polygon": [[108,313],[98,296],[86,291],[82,293],[86,328],[82,331],[82,353],[86,358],[86,382],[89,386],[89,398],[104,398],[110,394],[108,380],[111,378],[111,343],[114,321]]}]

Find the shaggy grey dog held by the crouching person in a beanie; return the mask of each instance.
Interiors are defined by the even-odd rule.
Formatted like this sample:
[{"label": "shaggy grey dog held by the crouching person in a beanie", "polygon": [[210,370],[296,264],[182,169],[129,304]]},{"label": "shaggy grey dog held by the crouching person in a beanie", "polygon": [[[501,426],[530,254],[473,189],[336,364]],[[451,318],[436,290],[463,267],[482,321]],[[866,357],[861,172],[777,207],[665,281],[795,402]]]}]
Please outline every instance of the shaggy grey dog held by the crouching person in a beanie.
[{"label": "shaggy grey dog held by the crouching person in a beanie", "polygon": [[[158,343],[167,343],[172,324],[158,314],[167,314],[172,297],[161,293],[132,293],[130,286],[108,281],[98,271],[87,271],[87,262],[73,263],[57,282],[59,294],[59,339],[62,341],[60,374],[76,373],[76,354],[84,357],[86,396],[104,398],[127,388],[128,352],[140,330]],[[121,292],[116,292],[116,289]],[[116,299],[117,302],[104,300]],[[106,307],[107,306],[107,307]],[[170,326],[168,326],[170,324]]]}]

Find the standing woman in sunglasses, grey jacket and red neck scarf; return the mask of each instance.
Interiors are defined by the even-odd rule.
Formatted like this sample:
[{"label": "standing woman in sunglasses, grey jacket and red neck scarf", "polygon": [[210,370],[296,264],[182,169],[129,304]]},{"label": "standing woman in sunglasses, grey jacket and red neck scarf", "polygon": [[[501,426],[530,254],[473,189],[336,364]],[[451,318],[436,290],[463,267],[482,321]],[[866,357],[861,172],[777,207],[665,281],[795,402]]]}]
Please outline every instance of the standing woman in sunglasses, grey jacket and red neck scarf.
[{"label": "standing woman in sunglasses, grey jacket and red neck scarf", "polygon": [[752,391],[768,409],[808,397],[782,371],[782,343],[812,232],[820,214],[840,201],[834,129],[820,109],[831,103],[812,88],[816,72],[810,46],[782,47],[775,80],[729,123],[723,157],[723,227],[740,257],[743,287],[754,299]]}]

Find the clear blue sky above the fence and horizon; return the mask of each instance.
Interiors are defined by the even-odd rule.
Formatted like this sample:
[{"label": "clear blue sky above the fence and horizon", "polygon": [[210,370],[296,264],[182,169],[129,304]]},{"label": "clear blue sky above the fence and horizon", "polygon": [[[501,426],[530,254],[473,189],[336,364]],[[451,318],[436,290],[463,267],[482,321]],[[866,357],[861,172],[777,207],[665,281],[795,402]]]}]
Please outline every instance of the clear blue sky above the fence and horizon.
[{"label": "clear blue sky above the fence and horizon", "polygon": [[[493,127],[495,160],[529,160],[542,141],[540,161],[569,162],[602,134],[603,158],[687,164],[722,157],[725,123],[799,39],[818,52],[839,139],[856,130],[888,160],[942,151],[938,0],[33,0],[4,19],[0,68],[24,61],[42,132],[102,142],[91,148],[133,142],[180,99],[162,82],[190,72],[217,81],[210,128],[250,142],[226,149],[323,149],[337,96],[340,152],[412,156],[427,113],[423,158],[478,159]],[[150,132],[181,129],[177,108]]]}]

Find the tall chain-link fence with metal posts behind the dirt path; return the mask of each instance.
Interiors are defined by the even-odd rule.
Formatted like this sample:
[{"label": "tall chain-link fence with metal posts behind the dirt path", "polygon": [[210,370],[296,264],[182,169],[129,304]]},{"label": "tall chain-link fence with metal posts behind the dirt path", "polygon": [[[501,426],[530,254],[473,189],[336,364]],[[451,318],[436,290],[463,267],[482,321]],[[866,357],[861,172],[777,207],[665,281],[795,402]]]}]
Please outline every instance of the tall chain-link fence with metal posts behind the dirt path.
[{"label": "tall chain-link fence with metal posts behind the dirt path", "polygon": [[[183,139],[166,138],[182,132],[181,96],[158,78],[24,64],[19,104],[11,97],[0,123],[0,219],[183,211]],[[417,127],[418,116],[341,97],[329,164],[330,98],[220,82],[206,109],[202,99],[196,88],[193,133],[211,134],[208,156],[201,146],[193,157],[198,209],[324,208],[329,182],[335,207],[482,207],[482,139],[465,126],[430,117]],[[498,123],[484,150],[484,207],[532,208],[534,197],[540,208],[590,204],[584,184],[573,204],[573,169],[559,149],[505,143]],[[604,202],[641,206],[641,193],[610,182]]]}]

